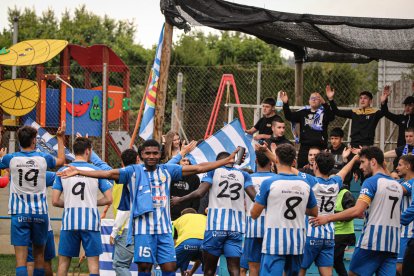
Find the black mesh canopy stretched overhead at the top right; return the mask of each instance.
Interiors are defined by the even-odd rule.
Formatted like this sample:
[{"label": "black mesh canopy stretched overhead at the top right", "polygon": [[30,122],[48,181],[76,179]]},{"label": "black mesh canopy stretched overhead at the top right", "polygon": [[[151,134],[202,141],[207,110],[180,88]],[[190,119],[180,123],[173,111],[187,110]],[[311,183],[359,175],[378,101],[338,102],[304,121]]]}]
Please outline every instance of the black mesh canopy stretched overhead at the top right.
[{"label": "black mesh canopy stretched overhead at the top right", "polygon": [[306,62],[414,63],[414,20],[295,14],[222,0],[161,0],[168,23],[254,35]]}]

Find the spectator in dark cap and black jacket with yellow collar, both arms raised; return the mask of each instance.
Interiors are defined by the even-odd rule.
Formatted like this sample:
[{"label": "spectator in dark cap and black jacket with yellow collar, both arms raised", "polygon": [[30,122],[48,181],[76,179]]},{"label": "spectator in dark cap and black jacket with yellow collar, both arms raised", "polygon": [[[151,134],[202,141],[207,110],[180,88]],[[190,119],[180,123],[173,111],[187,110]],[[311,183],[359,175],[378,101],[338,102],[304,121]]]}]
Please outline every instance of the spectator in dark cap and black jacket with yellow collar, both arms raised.
[{"label": "spectator in dark cap and black jacket with yellow collar, both arms raised", "polygon": [[[381,96],[381,104],[386,100],[385,90]],[[372,108],[372,93],[362,91],[359,93],[359,107],[353,110],[339,110],[334,101],[335,90],[330,85],[326,86],[326,96],[329,99],[330,106],[336,116],[348,118],[352,120],[351,127],[351,146],[359,148],[359,146],[372,146],[375,139],[375,129],[379,120],[384,116],[384,112],[377,108]]]}]

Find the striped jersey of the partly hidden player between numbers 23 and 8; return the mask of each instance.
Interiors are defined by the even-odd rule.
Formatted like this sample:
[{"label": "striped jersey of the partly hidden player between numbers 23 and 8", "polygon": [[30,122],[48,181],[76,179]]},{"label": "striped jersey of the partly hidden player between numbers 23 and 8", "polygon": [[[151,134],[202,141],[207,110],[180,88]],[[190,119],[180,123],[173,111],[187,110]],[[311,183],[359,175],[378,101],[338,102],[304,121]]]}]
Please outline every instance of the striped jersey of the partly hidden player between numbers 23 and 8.
[{"label": "striped jersey of the partly hidden player between numbers 23 and 8", "polygon": [[[275,174],[272,172],[255,172],[251,174],[252,182],[256,193],[259,192],[260,186],[263,181],[269,179]],[[260,214],[260,217],[257,219],[252,219],[250,216],[250,210],[253,207],[253,202],[248,195],[245,195],[246,200],[246,238],[263,238],[264,236],[264,220],[265,220],[265,211]]]}]

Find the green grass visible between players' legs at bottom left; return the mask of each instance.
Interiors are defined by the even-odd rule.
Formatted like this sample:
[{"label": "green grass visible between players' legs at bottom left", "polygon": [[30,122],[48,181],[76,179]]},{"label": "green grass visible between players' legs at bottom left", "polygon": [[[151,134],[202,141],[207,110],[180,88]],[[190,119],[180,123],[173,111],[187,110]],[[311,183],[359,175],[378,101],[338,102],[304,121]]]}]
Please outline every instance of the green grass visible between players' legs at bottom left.
[{"label": "green grass visible between players' legs at bottom left", "polygon": [[[79,269],[76,269],[78,266],[79,259],[73,258],[72,264],[69,268],[69,275],[72,275],[73,272],[76,272],[74,275],[78,275]],[[53,272],[57,271],[57,264],[58,258],[54,258],[52,261]],[[16,275],[15,273],[16,267],[16,258],[14,255],[0,255],[0,275],[1,276],[8,276],[8,275]],[[88,273],[88,264],[87,261],[83,261],[81,265],[81,273]]]}]

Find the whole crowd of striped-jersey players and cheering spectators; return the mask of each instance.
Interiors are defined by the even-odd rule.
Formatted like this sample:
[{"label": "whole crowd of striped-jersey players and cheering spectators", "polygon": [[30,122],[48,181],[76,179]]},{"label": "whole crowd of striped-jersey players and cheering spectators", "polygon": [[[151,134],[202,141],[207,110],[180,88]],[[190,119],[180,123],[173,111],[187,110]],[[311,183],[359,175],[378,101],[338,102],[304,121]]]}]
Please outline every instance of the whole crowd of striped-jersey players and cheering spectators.
[{"label": "whole crowd of striped-jersey players and cheering spectators", "polygon": [[[53,275],[49,186],[53,206],[63,208],[57,275],[68,274],[81,245],[90,275],[99,275],[98,206],[112,204],[116,187],[121,197],[110,242],[117,275],[131,275],[131,262],[140,276],[151,275],[154,265],[166,276],[177,270],[192,275],[200,265],[204,275],[215,275],[222,255],[230,275],[306,275],[313,263],[321,275],[332,275],[333,268],[338,275],[414,275],[414,97],[397,115],[387,107],[388,86],[379,109],[363,91],[358,108],[340,110],[329,85],[327,101],[314,92],[298,111],[291,111],[286,92],[279,94],[285,120],[276,114],[276,101],[266,98],[263,117],[246,130],[257,142],[255,171],[234,166],[239,149],[190,164],[186,154],[197,143],[182,145],[175,132],[163,146],[146,140],[138,151],[124,151],[119,169],[99,159],[88,138],[77,137],[75,160],[64,165],[64,123],[56,133],[57,157],[36,151],[36,129],[20,128],[20,151],[0,152],[0,168],[10,174],[16,275]],[[341,128],[328,134],[335,116],[352,121],[348,146]],[[384,116],[399,126],[397,148],[386,153],[373,146]],[[299,127],[298,153],[285,137],[286,120]],[[387,158],[395,158],[392,172]],[[57,173],[48,171],[55,167],[61,167]],[[351,182],[361,184],[356,200]],[[358,241],[354,218],[364,218]],[[347,272],[344,252],[353,245]]]}]

